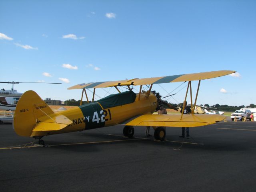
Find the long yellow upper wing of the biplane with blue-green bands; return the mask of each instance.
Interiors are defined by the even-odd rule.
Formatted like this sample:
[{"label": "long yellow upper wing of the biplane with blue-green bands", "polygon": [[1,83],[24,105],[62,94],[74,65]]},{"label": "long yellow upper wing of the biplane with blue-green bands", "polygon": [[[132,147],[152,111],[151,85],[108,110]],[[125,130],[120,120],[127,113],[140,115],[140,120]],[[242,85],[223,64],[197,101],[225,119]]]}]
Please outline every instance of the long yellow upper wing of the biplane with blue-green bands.
[{"label": "long yellow upper wing of the biplane with blue-green bands", "polygon": [[68,89],[106,88],[106,87],[125,86],[125,85],[147,85],[147,84],[160,84],[160,83],[170,83],[170,82],[194,81],[194,80],[203,80],[203,79],[220,77],[220,76],[228,75],[235,72],[236,71],[222,70],[222,71],[211,71],[211,72],[172,75],[172,76],[143,78],[143,79],[135,78],[130,80],[120,80],[120,81],[82,83],[82,84],[72,86]]}]

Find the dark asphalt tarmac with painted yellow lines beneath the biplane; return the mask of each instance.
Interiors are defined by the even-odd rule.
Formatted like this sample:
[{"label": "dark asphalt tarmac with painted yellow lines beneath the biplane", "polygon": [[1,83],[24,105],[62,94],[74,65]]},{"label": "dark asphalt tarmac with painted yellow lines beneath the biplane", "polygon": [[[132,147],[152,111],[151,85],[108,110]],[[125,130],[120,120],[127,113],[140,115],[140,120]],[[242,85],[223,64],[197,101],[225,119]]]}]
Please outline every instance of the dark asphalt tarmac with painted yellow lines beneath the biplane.
[{"label": "dark asphalt tarmac with painted yellow lines beneath the biplane", "polygon": [[[44,137],[48,147],[0,125],[0,191],[255,192],[256,122],[166,128],[165,142],[122,136],[122,126]],[[150,134],[153,135],[150,128]]]}]

